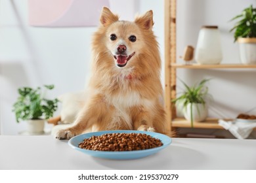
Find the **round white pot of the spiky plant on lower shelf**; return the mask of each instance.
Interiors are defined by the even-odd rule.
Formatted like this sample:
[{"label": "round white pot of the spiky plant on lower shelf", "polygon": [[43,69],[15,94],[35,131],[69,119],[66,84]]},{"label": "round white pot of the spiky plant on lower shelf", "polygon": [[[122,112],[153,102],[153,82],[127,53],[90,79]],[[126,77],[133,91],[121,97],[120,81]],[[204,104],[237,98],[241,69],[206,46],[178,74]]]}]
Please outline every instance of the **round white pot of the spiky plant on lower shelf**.
[{"label": "round white pot of the spiky plant on lower shelf", "polygon": [[[191,113],[191,105],[192,105],[192,113]],[[208,110],[206,105],[201,103],[189,103],[186,108],[183,110],[183,115],[186,120],[191,122],[191,114],[193,122],[202,122],[208,115]]]}]

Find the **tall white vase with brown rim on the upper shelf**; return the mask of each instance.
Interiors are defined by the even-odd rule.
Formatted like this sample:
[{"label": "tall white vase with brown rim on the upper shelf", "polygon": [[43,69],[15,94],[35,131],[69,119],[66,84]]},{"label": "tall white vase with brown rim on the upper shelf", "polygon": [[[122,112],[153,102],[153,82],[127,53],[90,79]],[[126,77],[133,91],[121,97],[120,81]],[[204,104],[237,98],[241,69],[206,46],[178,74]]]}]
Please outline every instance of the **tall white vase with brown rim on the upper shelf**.
[{"label": "tall white vase with brown rim on the upper shelf", "polygon": [[198,35],[195,59],[200,64],[219,64],[223,59],[217,26],[203,26]]}]

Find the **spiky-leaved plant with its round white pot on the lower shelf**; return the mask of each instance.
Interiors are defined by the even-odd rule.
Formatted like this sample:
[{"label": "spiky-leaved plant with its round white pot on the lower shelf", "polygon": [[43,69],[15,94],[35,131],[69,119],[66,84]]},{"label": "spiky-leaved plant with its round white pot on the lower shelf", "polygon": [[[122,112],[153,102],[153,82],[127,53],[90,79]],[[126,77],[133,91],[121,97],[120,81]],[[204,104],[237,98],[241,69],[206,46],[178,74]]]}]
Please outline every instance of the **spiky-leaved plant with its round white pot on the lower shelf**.
[{"label": "spiky-leaved plant with its round white pot on the lower shelf", "polygon": [[185,90],[172,101],[182,111],[184,118],[191,122],[191,127],[194,127],[194,121],[201,122],[207,117],[208,110],[205,99],[208,95],[208,88],[205,86],[205,83],[208,80],[203,79],[199,84],[191,87],[181,81]]}]

